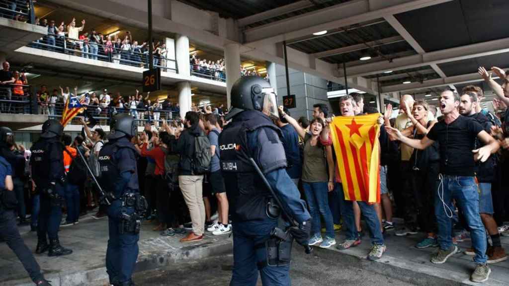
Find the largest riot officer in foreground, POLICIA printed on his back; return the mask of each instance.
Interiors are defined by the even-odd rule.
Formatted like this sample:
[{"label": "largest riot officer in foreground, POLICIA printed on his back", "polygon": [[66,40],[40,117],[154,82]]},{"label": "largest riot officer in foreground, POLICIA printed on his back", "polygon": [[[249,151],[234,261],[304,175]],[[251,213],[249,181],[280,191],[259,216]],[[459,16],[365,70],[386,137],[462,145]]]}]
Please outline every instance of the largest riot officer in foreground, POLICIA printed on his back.
[{"label": "largest riot officer in foreground, POLICIA printed on his back", "polygon": [[[232,108],[219,137],[221,169],[231,206],[234,269],[231,286],[254,286],[260,271],[263,285],[290,285],[292,239],[273,236],[281,221],[294,220],[298,227],[290,233],[307,245],[311,219],[299,191],[286,173],[287,161],[281,131],[272,118],[278,117],[275,94],[270,84],[258,76],[245,76],[232,87]],[[285,213],[274,203],[268,186],[279,198]],[[279,221],[279,225],[278,225]]]}]

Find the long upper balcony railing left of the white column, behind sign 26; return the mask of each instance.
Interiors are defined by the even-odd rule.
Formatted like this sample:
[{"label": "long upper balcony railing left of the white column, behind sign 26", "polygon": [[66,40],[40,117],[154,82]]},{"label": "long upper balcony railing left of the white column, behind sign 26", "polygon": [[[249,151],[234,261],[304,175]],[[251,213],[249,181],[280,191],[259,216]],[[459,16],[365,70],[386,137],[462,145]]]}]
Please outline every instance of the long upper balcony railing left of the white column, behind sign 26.
[{"label": "long upper balcony railing left of the white column, behind sign 26", "polygon": [[[122,50],[114,46],[98,44],[89,40],[76,40],[66,36],[48,35],[29,44],[30,47],[80,56],[81,58],[116,63],[127,66],[149,68],[148,51]],[[140,47],[140,46],[139,46]],[[141,49],[141,48],[140,48]],[[168,65],[173,63],[173,65]],[[161,71],[177,72],[177,62],[154,55],[154,67]]]}]

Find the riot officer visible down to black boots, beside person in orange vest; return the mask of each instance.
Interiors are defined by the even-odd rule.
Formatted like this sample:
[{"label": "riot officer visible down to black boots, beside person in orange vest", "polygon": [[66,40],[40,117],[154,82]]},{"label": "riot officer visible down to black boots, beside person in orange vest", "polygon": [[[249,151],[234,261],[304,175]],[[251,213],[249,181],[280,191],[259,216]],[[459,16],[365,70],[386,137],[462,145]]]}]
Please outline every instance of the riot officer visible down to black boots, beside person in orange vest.
[{"label": "riot officer visible down to black boots, beside person in orange vest", "polygon": [[42,125],[41,137],[31,148],[32,184],[41,197],[35,252],[48,251],[48,256],[72,253],[71,249],[60,245],[58,235],[65,184],[64,145],[61,142],[63,130],[58,120],[47,120]]}]

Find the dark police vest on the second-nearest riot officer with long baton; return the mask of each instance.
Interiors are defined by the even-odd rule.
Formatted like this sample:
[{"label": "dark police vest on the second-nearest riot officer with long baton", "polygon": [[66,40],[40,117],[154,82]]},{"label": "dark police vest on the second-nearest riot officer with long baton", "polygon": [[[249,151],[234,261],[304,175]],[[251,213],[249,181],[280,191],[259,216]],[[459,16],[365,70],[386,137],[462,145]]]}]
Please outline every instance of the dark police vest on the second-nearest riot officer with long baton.
[{"label": "dark police vest on the second-nearest riot officer with long baton", "polygon": [[[99,181],[106,192],[117,189],[116,180],[120,176],[120,170],[115,159],[115,154],[121,148],[129,148],[132,149],[133,152],[136,152],[134,148],[119,145],[117,142],[108,142],[101,148],[101,151],[99,151]],[[122,192],[124,192],[124,190],[122,190]],[[116,197],[120,197],[120,195],[122,195],[122,193],[115,193]]]}]

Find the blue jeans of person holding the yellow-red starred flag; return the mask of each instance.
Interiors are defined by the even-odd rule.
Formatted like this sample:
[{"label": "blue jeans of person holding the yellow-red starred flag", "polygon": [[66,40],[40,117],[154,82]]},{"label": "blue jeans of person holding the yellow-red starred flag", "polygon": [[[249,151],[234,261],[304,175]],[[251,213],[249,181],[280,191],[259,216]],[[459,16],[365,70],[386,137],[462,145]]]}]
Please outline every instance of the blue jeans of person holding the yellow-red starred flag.
[{"label": "blue jeans of person holding the yellow-red starred flag", "polygon": [[[373,244],[383,245],[383,235],[380,230],[380,220],[378,220],[375,206],[367,204],[366,202],[357,202],[361,214],[370,230],[371,242]],[[355,240],[358,237],[357,227],[355,227],[355,218],[353,214],[353,202],[345,201],[345,211],[343,212],[343,225],[347,226],[346,236],[348,240]]]}]

